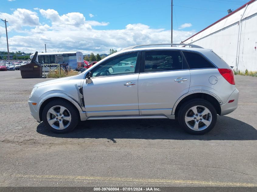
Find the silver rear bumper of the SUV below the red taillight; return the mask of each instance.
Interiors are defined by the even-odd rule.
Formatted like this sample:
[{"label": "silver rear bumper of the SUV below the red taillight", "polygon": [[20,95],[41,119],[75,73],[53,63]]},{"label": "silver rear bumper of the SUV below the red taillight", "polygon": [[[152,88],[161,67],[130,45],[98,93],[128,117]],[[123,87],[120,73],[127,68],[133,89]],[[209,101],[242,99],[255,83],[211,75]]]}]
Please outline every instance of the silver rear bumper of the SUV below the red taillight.
[{"label": "silver rear bumper of the SUV below the red taillight", "polygon": [[[235,89],[234,92],[231,94],[231,96],[227,99],[227,102],[221,105],[221,115],[227,115],[233,112],[237,108],[238,96],[239,96],[239,91]],[[232,103],[228,103],[230,100],[233,100],[233,99],[234,101]]]}]

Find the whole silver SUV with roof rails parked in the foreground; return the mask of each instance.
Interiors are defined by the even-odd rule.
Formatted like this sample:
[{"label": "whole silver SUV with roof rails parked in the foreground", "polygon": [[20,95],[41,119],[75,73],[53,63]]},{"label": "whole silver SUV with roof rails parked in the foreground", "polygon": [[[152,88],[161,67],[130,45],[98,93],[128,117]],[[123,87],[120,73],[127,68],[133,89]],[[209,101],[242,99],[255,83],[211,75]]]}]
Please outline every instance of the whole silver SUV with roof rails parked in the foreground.
[{"label": "whole silver SUV with roof rails parked in the foreground", "polygon": [[210,49],[165,45],[128,47],[77,76],[36,84],[32,116],[54,133],[79,121],[143,118],[176,119],[188,133],[209,132],[217,114],[238,106],[233,70]]}]

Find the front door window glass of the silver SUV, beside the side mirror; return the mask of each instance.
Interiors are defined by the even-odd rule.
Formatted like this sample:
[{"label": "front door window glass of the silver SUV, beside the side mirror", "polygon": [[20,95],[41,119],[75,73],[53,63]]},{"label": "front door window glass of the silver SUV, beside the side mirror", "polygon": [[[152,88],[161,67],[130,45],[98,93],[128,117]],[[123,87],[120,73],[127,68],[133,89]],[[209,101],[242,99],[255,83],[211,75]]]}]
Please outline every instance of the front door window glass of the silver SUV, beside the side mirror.
[{"label": "front door window glass of the silver SUV, beside the side mirror", "polygon": [[92,70],[92,77],[135,73],[134,61],[136,60],[137,52],[114,57],[94,68]]}]

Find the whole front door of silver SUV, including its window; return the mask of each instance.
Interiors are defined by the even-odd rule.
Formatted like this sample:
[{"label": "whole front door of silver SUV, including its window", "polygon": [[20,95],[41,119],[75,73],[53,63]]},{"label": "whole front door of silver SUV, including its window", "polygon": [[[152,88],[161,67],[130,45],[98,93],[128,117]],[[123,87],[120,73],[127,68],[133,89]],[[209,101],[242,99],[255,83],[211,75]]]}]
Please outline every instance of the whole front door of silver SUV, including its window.
[{"label": "whole front door of silver SUV, including its window", "polygon": [[[92,83],[87,84],[85,80],[83,84],[88,117],[139,115],[137,90],[140,62],[141,52],[122,53],[90,71]],[[128,66],[130,70],[123,66]]]}]

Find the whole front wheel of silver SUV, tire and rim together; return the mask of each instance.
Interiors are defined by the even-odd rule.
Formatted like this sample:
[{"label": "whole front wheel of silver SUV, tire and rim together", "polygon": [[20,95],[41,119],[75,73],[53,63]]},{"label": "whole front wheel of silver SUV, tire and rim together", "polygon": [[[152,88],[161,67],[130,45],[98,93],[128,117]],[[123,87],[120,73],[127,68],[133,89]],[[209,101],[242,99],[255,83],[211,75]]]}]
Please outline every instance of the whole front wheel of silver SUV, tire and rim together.
[{"label": "whole front wheel of silver SUV, tire and rim together", "polygon": [[42,118],[44,125],[54,133],[68,133],[79,122],[78,110],[63,99],[47,103],[43,109]]}]

